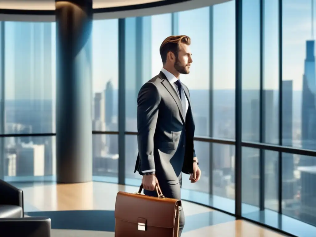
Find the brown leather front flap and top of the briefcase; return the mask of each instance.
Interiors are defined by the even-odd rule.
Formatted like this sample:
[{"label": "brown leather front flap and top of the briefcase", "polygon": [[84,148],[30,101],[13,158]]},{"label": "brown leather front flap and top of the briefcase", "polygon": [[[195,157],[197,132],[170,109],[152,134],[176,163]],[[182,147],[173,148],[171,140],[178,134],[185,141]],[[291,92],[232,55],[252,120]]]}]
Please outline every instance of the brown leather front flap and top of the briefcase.
[{"label": "brown leather front flap and top of the briefcase", "polygon": [[176,204],[181,206],[181,201],[120,191],[116,196],[114,216],[125,222],[137,224],[142,219],[147,226],[173,228]]}]

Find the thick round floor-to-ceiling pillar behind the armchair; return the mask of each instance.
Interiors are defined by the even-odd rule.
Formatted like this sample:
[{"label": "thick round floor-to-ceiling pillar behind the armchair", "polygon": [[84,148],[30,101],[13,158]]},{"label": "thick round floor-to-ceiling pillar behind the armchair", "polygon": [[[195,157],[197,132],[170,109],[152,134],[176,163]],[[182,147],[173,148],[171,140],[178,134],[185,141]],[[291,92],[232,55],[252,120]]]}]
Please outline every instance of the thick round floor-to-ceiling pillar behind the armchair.
[{"label": "thick round floor-to-ceiling pillar behind the armchair", "polygon": [[92,181],[92,0],[56,0],[56,176]]}]

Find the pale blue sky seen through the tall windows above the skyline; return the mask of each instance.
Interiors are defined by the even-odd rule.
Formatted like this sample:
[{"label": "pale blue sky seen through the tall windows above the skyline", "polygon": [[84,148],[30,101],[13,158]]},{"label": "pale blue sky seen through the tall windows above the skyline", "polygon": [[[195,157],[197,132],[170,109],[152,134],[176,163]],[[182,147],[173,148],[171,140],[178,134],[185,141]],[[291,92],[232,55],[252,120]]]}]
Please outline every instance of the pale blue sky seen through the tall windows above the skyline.
[{"label": "pale blue sky seen through the tall windows above the skyline", "polygon": [[[276,90],[278,88],[277,1],[265,0],[264,2],[264,87]],[[215,89],[234,89],[235,87],[234,4],[234,1],[229,1],[217,4],[213,8],[213,86]],[[258,89],[259,0],[244,0],[243,7],[243,88]],[[162,66],[159,46],[171,34],[171,14],[154,15],[149,18],[151,18],[151,76],[155,76]],[[191,73],[181,76],[181,80],[190,89],[209,88],[209,19],[209,7],[179,13],[179,34],[187,34],[192,39],[193,64]],[[12,56],[15,37],[12,26],[14,24],[15,22],[7,22],[5,31],[7,98],[10,98],[10,91],[14,89],[13,72],[15,69]],[[42,23],[25,22],[25,24]],[[56,23],[51,24],[52,73],[53,78],[55,78]],[[305,42],[311,39],[310,32],[311,0],[284,0],[283,80],[293,80],[295,90],[300,90],[302,87]],[[110,79],[114,88],[118,88],[118,20],[95,20],[93,22],[92,45],[93,91],[101,91]],[[52,87],[54,90],[55,83],[52,83]]]}]

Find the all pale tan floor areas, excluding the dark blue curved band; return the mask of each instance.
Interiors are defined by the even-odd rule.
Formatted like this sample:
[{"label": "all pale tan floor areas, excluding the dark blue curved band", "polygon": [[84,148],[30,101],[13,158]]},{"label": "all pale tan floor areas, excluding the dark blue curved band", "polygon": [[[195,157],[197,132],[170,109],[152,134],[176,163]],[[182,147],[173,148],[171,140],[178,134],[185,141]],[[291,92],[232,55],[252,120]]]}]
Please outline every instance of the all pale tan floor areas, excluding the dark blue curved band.
[{"label": "all pale tan floor areas, excluding the dark blue curved band", "polygon": [[[114,210],[116,193],[118,191],[136,192],[137,187],[116,185],[102,182],[88,182],[81,184],[44,184],[19,187],[24,192],[24,200],[28,205],[39,211],[65,211],[65,210]],[[26,205],[27,206],[27,205]],[[203,215],[213,211],[210,208],[183,202],[185,216]],[[26,212],[31,210],[25,210]],[[216,212],[216,211],[215,211]],[[187,218],[186,218],[187,220]],[[198,221],[198,220],[197,220]],[[190,223],[186,223],[189,225]],[[68,231],[68,232],[67,232]],[[82,231],[82,230],[53,230],[52,236],[114,236],[111,232]],[[103,235],[102,235],[103,234]],[[220,224],[186,231],[182,237],[280,237],[269,229],[246,221],[228,221]]]}]

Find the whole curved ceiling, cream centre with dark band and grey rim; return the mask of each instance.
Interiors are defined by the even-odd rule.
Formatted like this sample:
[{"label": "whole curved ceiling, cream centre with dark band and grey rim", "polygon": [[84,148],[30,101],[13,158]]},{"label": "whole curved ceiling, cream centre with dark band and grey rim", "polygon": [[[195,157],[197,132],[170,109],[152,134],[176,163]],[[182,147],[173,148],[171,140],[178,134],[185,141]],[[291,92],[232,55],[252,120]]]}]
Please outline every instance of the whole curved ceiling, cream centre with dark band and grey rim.
[{"label": "whole curved ceiling, cream centre with dark band and grey rim", "polygon": [[[65,0],[67,1],[67,0]],[[216,5],[232,0],[93,0],[94,20],[158,15]],[[153,7],[125,9],[131,4],[166,1]],[[109,9],[116,7],[115,11]],[[123,7],[123,9],[120,9]],[[108,10],[106,10],[108,8]],[[31,10],[31,12],[29,12]],[[0,0],[0,21],[56,21],[55,0]],[[25,12],[24,12],[25,11]]]}]

